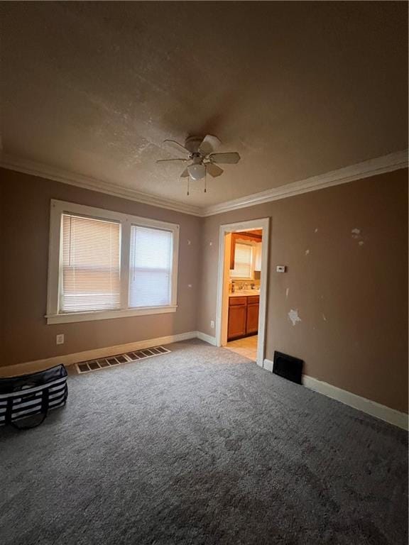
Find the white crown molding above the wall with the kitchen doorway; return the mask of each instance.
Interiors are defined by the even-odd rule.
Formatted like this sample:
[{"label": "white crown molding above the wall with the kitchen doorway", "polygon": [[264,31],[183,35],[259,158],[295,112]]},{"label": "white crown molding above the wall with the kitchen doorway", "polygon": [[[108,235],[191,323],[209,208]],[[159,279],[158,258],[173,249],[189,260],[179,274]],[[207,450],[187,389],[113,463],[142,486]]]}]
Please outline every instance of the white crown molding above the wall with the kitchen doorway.
[{"label": "white crown molding above the wall with the kitchen doorway", "polygon": [[360,180],[361,178],[407,167],[408,150],[398,151],[375,159],[369,159],[362,163],[356,163],[356,165],[350,165],[349,167],[332,170],[325,174],[312,176],[306,180],[272,187],[266,191],[246,195],[246,197],[239,197],[239,199],[214,204],[212,207],[202,209],[202,216],[214,216],[214,214],[222,214],[223,212],[231,210],[253,207],[256,204],[294,197],[295,195],[300,195],[302,193],[317,191],[317,189],[347,184],[348,182],[354,182],[354,180]]}]

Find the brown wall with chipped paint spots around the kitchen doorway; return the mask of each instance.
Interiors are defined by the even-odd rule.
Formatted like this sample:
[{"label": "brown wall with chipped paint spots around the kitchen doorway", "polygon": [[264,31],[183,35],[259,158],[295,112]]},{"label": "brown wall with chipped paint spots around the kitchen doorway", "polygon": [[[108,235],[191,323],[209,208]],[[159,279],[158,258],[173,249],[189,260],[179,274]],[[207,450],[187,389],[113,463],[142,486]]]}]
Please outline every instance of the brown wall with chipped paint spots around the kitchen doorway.
[{"label": "brown wall with chipped paint spots around the kitchen doorway", "polygon": [[[198,329],[214,335],[219,226],[269,216],[266,357],[297,356],[307,375],[407,411],[407,207],[408,172],[400,170],[210,216]],[[290,309],[301,319],[295,326]]]}]

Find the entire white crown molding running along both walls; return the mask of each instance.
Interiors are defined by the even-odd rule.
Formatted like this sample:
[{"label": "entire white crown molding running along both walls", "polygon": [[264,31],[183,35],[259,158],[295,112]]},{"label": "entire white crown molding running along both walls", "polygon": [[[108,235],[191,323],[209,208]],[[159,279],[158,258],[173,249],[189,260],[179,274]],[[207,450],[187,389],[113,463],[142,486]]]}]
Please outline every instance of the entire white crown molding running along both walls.
[{"label": "entire white crown molding running along both walls", "polygon": [[11,158],[9,155],[1,155],[0,167],[47,178],[48,180],[55,180],[56,182],[62,182],[64,184],[83,187],[84,189],[91,189],[92,191],[107,193],[114,197],[121,197],[123,199],[149,204],[153,207],[174,210],[192,216],[207,217],[231,210],[253,207],[256,206],[256,204],[286,199],[287,197],[295,197],[295,195],[317,191],[318,189],[325,189],[326,187],[332,187],[334,185],[347,184],[348,182],[354,182],[354,180],[391,172],[400,168],[407,168],[408,150],[389,153],[382,157],[369,159],[362,163],[356,163],[356,165],[332,170],[331,172],[326,172],[322,175],[299,180],[298,182],[272,187],[271,189],[266,189],[266,191],[253,193],[220,204],[214,204],[213,206],[206,208],[195,207],[191,204],[173,201],[172,199],[164,199],[163,197],[153,194],[136,191],[136,189],[119,187],[111,182],[102,182],[91,177],[66,172],[41,163]]}]

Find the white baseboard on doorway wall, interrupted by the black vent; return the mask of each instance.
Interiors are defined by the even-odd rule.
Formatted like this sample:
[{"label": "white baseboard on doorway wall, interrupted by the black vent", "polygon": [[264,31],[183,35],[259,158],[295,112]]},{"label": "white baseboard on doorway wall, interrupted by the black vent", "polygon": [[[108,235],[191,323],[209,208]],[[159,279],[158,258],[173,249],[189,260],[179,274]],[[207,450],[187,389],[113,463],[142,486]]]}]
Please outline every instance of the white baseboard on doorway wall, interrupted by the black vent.
[{"label": "white baseboard on doorway wall, interrupted by the black vent", "polygon": [[[264,360],[263,368],[272,371],[273,362],[271,360]],[[371,417],[388,422],[388,424],[408,430],[409,417],[404,412],[396,411],[395,409],[391,409],[391,407],[386,407],[386,405],[381,405],[381,403],[368,400],[366,397],[342,390],[337,386],[328,384],[328,382],[322,382],[322,380],[309,377],[308,375],[303,376],[302,383],[309,390],[314,390],[322,395],[331,397],[333,400],[349,405],[349,407],[354,407],[354,409],[366,412],[366,414],[371,414]]]}]

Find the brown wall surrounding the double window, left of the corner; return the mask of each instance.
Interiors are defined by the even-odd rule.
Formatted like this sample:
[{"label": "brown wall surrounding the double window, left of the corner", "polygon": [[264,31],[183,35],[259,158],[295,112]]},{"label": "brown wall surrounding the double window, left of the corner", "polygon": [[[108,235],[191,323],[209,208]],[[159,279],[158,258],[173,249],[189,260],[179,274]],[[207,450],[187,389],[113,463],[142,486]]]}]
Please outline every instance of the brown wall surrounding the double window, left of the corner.
[{"label": "brown wall surrounding the double window, left of the corner", "polygon": [[[199,218],[11,170],[0,169],[0,186],[3,337],[0,365],[196,330]],[[44,315],[50,199],[180,224],[178,310],[173,314],[47,325]],[[56,346],[58,333],[65,334],[64,345]]]}]

